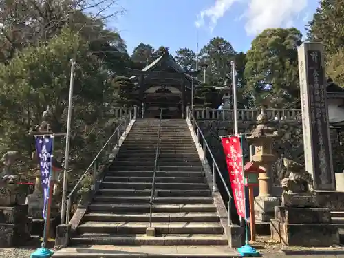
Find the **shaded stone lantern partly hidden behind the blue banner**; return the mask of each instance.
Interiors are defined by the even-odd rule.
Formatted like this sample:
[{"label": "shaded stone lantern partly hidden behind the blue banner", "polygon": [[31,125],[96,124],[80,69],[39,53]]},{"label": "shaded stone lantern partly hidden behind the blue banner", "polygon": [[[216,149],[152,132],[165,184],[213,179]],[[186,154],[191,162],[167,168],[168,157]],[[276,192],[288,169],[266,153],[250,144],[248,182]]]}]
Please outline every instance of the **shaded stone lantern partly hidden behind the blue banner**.
[{"label": "shaded stone lantern partly hidden behind the blue banner", "polygon": [[[34,136],[35,134],[52,134],[52,129],[50,127],[51,112],[49,108],[43,112],[42,122],[39,125],[36,125],[34,129],[31,129],[29,134]],[[41,171],[39,167],[39,158],[36,151],[32,152],[32,160],[36,164],[36,182],[34,184],[34,192],[31,195],[28,195],[26,198],[26,204],[28,204],[28,217],[32,219],[32,235],[43,235],[44,231],[44,219],[43,219],[43,208],[44,208],[44,198],[43,198],[43,189],[41,185]],[[53,160],[54,163],[54,160]],[[54,172],[53,172],[54,173]],[[53,180],[56,179],[56,175],[53,175]],[[54,200],[54,195],[52,199],[52,206],[50,211],[50,236],[55,236],[55,217],[58,213],[58,206]]]}]

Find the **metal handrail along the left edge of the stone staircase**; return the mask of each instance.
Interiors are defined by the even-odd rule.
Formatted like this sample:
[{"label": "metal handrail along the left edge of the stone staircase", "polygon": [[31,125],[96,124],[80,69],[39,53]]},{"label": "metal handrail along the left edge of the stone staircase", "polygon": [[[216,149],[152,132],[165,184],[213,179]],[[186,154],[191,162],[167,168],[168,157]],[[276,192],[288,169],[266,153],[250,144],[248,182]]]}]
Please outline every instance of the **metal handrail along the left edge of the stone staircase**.
[{"label": "metal handrail along the left edge of the stone staircase", "polygon": [[[131,116],[132,114],[130,114],[129,117],[129,122],[132,118]],[[103,145],[103,147],[100,149],[100,151],[98,151],[96,157],[92,160],[91,164],[89,164],[89,166],[87,167],[87,169],[85,170],[85,172],[83,173],[83,175],[81,175],[81,177],[79,178],[78,182],[76,182],[74,188],[72,189],[72,191],[70,191],[69,195],[67,195],[67,209],[66,209],[66,224],[69,224],[69,214],[70,214],[70,209],[72,206],[72,195],[74,194],[74,192],[76,191],[76,189],[78,188],[78,186],[80,185],[81,181],[83,181],[83,179],[85,178],[85,176],[87,175],[87,173],[89,173],[89,170],[92,168],[92,166],[96,165],[96,161],[98,160],[100,154],[103,152],[103,150],[105,149],[105,147],[108,146],[109,142],[111,142],[112,138],[114,138],[114,136],[118,136],[118,140],[120,138],[120,128],[124,125],[125,127],[127,127],[127,118],[124,118],[124,120],[122,120],[120,122],[120,124],[116,127],[114,133],[111,134],[111,136],[109,137],[109,139],[105,142],[105,144]],[[135,119],[135,118],[134,118]],[[95,173],[95,171],[94,171]],[[94,182],[92,182],[92,189],[95,190],[95,186],[96,186],[96,175],[94,175]]]}]

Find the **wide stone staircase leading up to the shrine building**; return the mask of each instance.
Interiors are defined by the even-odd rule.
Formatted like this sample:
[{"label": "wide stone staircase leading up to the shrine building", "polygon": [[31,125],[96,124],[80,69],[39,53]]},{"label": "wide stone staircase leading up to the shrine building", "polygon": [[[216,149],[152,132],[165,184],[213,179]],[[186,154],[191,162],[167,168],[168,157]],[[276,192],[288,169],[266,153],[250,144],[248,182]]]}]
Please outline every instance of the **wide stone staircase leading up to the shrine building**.
[{"label": "wide stone staircase leading up to the shrine building", "polygon": [[[228,237],[185,120],[162,120],[152,217],[155,236],[146,235],[158,127],[158,119],[136,120],[72,235],[71,247],[54,257],[76,257],[75,248],[85,245],[155,246],[159,250],[162,246],[208,246],[211,256],[230,257]],[[199,255],[206,257],[202,252]],[[195,251],[187,257],[193,255]]]}]

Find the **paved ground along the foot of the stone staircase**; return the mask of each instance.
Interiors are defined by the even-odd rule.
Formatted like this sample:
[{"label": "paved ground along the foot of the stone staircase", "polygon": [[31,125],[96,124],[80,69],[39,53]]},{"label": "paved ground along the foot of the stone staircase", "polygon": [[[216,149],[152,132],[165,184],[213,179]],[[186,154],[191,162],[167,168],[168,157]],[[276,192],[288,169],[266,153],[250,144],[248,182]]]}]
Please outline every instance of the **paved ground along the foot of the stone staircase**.
[{"label": "paved ground along the foot of the stone staircase", "polygon": [[[17,248],[0,248],[0,258],[28,258],[41,246],[39,238],[34,238],[25,243],[24,246]],[[54,246],[50,243],[50,248]],[[282,247],[280,244],[271,241],[268,237],[257,237],[257,242],[252,244],[262,255],[268,258],[305,258],[305,257],[321,257],[321,258],[344,258],[344,246],[332,246],[329,248],[302,248],[302,247]],[[235,249],[227,246],[90,246],[92,248],[63,248],[56,253],[78,252],[80,257],[90,252],[103,252],[112,254],[142,255],[142,257],[153,254],[171,254],[173,255],[225,255],[226,257],[239,257]]]}]

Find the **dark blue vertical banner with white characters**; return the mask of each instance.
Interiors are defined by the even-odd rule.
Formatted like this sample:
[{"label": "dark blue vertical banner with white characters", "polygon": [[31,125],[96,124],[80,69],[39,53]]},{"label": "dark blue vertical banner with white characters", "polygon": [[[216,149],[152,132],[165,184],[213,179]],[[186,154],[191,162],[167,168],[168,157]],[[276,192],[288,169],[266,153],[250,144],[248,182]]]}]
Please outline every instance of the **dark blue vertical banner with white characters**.
[{"label": "dark blue vertical banner with white characters", "polygon": [[47,200],[49,198],[49,182],[52,173],[52,148],[54,138],[51,136],[36,136],[36,150],[41,170],[44,208],[43,218],[46,218]]}]

